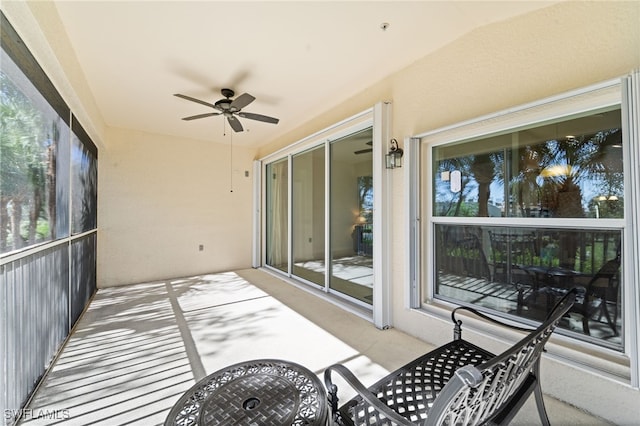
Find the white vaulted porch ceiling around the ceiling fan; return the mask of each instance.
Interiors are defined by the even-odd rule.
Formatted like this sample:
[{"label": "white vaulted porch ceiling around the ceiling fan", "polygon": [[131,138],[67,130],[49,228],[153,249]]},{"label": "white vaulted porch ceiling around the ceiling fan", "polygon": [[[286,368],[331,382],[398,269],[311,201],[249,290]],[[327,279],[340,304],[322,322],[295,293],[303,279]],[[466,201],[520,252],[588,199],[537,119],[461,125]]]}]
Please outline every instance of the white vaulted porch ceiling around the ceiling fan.
[{"label": "white vaulted porch ceiling around the ceiling fan", "polygon": [[[258,146],[474,28],[539,1],[56,1],[60,19],[109,126],[212,140],[221,116],[194,121],[220,89],[256,100],[234,136]],[[388,23],[388,28],[381,28]],[[464,66],[464,64],[461,64]],[[230,131],[226,126],[227,132]]]}]

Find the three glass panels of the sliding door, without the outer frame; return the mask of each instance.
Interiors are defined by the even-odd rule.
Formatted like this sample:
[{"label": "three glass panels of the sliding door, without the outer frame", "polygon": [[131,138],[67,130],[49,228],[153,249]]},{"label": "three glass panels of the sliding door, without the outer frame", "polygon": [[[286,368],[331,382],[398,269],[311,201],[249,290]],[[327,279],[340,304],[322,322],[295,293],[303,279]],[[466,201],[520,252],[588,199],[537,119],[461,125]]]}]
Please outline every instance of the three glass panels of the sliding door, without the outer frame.
[{"label": "three glass panels of the sliding door, without the outer frame", "polygon": [[373,304],[373,128],[322,138],[265,166],[265,264]]}]

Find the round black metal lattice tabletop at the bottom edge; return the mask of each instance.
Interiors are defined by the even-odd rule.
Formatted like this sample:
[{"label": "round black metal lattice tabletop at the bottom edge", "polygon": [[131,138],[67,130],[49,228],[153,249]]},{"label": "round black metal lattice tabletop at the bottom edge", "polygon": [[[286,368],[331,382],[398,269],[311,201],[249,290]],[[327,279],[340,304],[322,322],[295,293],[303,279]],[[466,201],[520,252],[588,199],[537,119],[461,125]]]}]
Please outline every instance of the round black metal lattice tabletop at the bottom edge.
[{"label": "round black metal lattice tabletop at the bottom edge", "polygon": [[234,364],[200,380],[175,403],[165,426],[325,425],[327,396],[318,376],[282,360]]}]

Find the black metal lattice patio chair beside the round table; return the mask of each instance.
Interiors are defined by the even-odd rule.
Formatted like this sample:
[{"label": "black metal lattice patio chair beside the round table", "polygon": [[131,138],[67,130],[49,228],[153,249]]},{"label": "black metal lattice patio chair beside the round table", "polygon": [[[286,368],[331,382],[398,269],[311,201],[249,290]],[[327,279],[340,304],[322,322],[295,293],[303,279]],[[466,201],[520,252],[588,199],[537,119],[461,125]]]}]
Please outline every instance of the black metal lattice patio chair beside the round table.
[{"label": "black metal lattice patio chair beside the round table", "polygon": [[[549,425],[540,387],[540,356],[544,345],[574,303],[570,290],[534,330],[511,326],[475,309],[456,308],[451,318],[454,339],[366,388],[341,364],[324,372],[332,421],[337,425],[479,425],[508,424],[531,393],[542,424]],[[469,311],[492,323],[527,331],[511,348],[496,356],[462,339],[462,320]],[[337,373],[357,392],[338,407]]]}]

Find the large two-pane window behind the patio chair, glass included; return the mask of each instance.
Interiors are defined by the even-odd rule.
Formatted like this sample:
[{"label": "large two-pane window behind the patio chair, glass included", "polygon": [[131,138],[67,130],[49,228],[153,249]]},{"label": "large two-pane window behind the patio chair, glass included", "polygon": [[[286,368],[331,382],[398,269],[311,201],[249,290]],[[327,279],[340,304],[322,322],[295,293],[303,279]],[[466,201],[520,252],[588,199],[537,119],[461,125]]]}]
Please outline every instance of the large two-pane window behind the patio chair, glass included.
[{"label": "large two-pane window behind the patio chair, glass included", "polygon": [[427,297],[526,322],[577,286],[560,327],[623,351],[622,129],[612,84],[424,137]]}]

